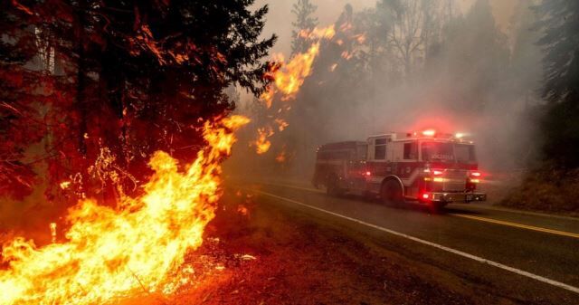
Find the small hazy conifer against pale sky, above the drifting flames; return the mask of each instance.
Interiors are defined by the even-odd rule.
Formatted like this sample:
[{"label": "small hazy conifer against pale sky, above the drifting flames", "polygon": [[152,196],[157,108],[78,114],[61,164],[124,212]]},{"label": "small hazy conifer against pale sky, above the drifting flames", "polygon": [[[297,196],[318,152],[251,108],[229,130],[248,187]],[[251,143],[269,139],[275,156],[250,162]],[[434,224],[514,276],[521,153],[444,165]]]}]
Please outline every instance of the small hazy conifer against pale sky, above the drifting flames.
[{"label": "small hazy conifer against pale sky, above the drifting flames", "polygon": [[316,13],[317,5],[312,4],[309,0],[298,0],[293,5],[291,13],[296,16],[296,21],[291,23],[294,30],[291,32],[291,54],[306,52],[308,42],[301,35],[303,31],[311,31],[318,26],[318,18],[312,15]]}]

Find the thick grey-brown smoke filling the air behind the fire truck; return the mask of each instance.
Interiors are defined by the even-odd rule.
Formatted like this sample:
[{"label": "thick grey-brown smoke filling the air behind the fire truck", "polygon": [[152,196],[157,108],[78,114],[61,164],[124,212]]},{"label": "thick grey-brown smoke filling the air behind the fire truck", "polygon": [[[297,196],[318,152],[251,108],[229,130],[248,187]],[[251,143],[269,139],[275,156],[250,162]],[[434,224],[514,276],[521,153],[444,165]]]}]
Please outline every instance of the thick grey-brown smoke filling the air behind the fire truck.
[{"label": "thick grey-brown smoke filling the air behind the fire truck", "polygon": [[[296,1],[270,1],[268,29],[285,53]],[[270,157],[250,157],[253,167],[308,178],[321,144],[423,128],[470,134],[480,167],[526,167],[537,146],[532,110],[541,102],[533,1],[311,2],[337,36],[322,45],[293,101],[289,129],[272,138]],[[281,150],[289,159],[276,167]],[[233,163],[239,158],[247,156]]]}]

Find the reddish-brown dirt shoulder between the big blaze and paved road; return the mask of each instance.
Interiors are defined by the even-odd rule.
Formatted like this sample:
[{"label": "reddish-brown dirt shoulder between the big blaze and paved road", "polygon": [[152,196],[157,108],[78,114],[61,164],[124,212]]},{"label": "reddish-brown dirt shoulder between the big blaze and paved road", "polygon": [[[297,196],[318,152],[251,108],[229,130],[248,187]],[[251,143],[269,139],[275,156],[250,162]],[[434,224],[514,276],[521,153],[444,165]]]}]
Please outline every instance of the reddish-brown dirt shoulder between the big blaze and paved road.
[{"label": "reddish-brown dirt shoulder between the big blaze and paved road", "polygon": [[[195,285],[144,296],[153,304],[496,304],[464,279],[317,224],[287,207],[226,195],[206,241],[185,264]],[[143,304],[143,299],[123,305]]]}]

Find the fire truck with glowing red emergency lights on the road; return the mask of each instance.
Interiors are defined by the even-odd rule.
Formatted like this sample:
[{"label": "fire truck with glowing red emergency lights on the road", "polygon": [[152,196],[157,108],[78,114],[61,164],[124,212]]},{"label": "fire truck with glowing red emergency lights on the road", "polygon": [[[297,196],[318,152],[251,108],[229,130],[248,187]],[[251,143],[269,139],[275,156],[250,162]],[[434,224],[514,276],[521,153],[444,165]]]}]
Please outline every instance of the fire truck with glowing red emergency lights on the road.
[{"label": "fire truck with glowing red emergency lights on the road", "polygon": [[388,205],[485,201],[474,143],[433,129],[388,133],[318,148],[313,185],[329,195],[378,196]]}]

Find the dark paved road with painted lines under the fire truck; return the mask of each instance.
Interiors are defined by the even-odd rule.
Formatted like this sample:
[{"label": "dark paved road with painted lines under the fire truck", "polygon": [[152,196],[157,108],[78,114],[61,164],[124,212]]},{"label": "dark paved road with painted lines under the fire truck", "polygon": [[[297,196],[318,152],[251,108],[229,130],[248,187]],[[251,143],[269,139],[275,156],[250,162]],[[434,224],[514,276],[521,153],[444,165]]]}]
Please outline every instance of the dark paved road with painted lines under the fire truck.
[{"label": "dark paved road with painted lines under the fire truck", "polygon": [[579,304],[579,219],[488,205],[449,205],[444,214],[430,214],[418,205],[330,197],[308,186],[243,187],[261,203],[372,235],[384,248],[480,282],[488,293],[519,302]]}]

